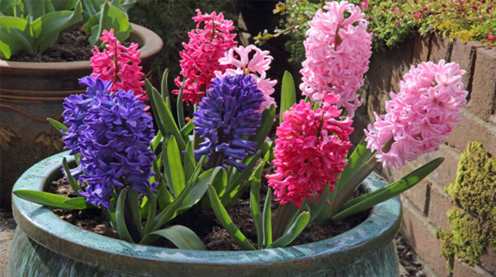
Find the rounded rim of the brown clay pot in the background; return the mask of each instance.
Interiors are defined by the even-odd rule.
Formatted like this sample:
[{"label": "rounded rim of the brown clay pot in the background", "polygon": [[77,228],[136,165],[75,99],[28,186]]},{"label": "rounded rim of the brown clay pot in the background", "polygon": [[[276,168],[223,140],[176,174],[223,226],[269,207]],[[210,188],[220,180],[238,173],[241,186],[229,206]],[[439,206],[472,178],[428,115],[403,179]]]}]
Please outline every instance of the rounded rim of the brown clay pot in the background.
[{"label": "rounded rim of the brown clay pot in the background", "polygon": [[[133,31],[132,35],[138,37],[138,40],[142,41],[141,48],[138,50],[141,51],[139,58],[141,60],[150,57],[154,53],[160,51],[163,46],[162,39],[155,34],[150,29],[147,29],[143,26],[130,23]],[[70,69],[83,69],[90,68],[90,61],[76,61],[76,62],[12,62],[0,59],[0,68],[9,68],[9,69],[17,69],[17,70],[46,70],[46,71],[59,71],[59,70],[70,70]]]}]

